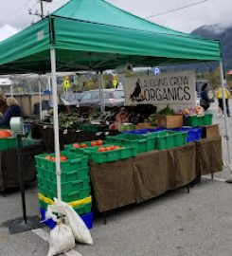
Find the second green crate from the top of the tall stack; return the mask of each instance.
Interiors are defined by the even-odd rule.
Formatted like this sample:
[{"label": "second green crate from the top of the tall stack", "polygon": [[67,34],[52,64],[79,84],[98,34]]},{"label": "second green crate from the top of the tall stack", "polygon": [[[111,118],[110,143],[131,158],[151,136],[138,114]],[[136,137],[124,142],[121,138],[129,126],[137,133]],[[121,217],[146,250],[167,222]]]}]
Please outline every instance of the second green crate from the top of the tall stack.
[{"label": "second green crate from the top of the tall stack", "polygon": [[[36,166],[37,174],[48,181],[56,181],[57,174],[47,171],[44,167]],[[68,172],[67,174],[61,174],[62,182],[81,180],[89,176],[89,167],[83,167],[79,170]]]}]

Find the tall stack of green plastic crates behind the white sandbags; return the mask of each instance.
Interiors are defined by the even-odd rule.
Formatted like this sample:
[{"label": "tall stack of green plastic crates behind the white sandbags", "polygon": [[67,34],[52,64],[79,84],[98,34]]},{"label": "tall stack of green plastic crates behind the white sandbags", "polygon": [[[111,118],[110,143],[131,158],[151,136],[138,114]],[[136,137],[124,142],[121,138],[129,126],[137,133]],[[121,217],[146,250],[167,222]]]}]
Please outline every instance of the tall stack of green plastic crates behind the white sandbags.
[{"label": "tall stack of green plastic crates behind the white sandbags", "polygon": [[[67,160],[61,161],[61,188],[62,201],[66,203],[75,202],[90,196],[90,176],[88,157],[68,151],[61,152]],[[46,155],[36,155],[36,169],[38,191],[40,194],[53,200],[57,198],[57,174],[56,163],[45,158]],[[55,156],[53,155],[50,155]],[[47,203],[40,199],[40,206],[46,210]],[[91,211],[92,203],[75,207],[80,215]]]}]

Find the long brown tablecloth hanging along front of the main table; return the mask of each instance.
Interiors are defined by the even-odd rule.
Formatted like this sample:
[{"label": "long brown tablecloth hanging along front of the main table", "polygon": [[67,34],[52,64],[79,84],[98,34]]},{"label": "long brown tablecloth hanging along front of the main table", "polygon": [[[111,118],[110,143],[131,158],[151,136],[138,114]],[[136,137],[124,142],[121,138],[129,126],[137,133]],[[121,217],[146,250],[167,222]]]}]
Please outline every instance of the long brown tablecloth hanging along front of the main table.
[{"label": "long brown tablecloth hanging along front of the main table", "polygon": [[91,163],[90,174],[98,211],[139,203],[187,185],[196,177],[196,145],[189,143],[112,163]]}]

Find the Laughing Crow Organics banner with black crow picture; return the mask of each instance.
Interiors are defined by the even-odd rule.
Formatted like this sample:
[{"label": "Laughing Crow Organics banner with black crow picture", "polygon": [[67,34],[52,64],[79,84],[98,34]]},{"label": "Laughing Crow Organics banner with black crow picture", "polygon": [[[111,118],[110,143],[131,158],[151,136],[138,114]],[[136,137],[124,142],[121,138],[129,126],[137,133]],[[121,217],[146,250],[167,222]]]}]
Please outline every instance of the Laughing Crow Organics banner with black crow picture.
[{"label": "Laughing Crow Organics banner with black crow picture", "polygon": [[191,107],[196,104],[195,74],[192,71],[128,77],[125,104]]}]

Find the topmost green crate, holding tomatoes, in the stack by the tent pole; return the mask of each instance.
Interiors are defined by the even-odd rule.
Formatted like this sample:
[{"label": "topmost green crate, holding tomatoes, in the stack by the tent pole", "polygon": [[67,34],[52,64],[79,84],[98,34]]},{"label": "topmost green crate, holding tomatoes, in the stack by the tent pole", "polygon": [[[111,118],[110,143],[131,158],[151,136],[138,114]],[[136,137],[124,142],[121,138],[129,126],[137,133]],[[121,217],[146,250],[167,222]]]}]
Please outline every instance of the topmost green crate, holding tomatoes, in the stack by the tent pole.
[{"label": "topmost green crate, holding tomatoes, in the stack by the tent pole", "polygon": [[[62,174],[67,174],[73,172],[74,170],[79,170],[81,168],[88,166],[88,156],[86,155],[78,155],[77,153],[72,153],[69,151],[62,151],[61,155],[67,157],[66,161],[61,161],[61,171]],[[47,171],[56,172],[56,162],[45,159],[46,154],[44,155],[36,155],[35,161],[36,165],[39,167],[45,168]],[[51,154],[51,156],[55,156]]]}]

